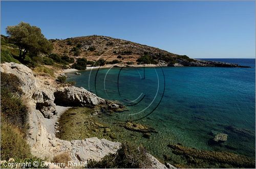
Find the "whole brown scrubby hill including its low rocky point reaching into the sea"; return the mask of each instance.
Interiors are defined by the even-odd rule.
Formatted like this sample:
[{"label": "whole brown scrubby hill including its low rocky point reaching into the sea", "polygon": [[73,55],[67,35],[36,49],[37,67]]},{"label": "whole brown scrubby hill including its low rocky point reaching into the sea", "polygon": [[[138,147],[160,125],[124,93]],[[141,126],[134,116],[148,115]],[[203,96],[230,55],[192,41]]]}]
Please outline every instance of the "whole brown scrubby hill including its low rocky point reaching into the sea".
[{"label": "whole brown scrubby hill including its low rocky point reaching into the sea", "polygon": [[[86,58],[88,61],[97,61],[99,58],[113,63],[124,65],[155,64],[161,66],[210,66],[210,67],[244,67],[213,61],[200,61],[162,50],[156,47],[116,39],[106,36],[84,36],[67,38],[65,40],[51,39],[53,52],[58,55]],[[114,61],[114,62],[113,62]]]}]

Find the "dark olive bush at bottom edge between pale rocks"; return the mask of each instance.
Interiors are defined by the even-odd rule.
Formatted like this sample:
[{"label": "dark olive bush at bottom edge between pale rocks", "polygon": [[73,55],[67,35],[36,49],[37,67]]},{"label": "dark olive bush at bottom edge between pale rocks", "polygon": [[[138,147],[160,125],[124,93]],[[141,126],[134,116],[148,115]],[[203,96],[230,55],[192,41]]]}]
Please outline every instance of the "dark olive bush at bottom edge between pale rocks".
[{"label": "dark olive bush at bottom edge between pale rocks", "polygon": [[151,168],[152,162],[143,147],[128,143],[121,145],[116,154],[109,154],[101,161],[89,161],[90,168]]}]

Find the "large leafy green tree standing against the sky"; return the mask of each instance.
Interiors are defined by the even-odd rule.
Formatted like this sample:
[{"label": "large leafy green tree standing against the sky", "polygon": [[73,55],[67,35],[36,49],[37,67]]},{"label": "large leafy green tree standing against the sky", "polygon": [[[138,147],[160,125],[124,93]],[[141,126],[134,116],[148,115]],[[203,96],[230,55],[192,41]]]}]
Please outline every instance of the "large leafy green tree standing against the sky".
[{"label": "large leafy green tree standing against the sky", "polygon": [[15,26],[7,26],[6,33],[19,48],[19,57],[25,59],[29,52],[31,55],[39,53],[49,53],[52,49],[52,43],[42,35],[39,27],[31,26],[29,23],[20,22]]}]

